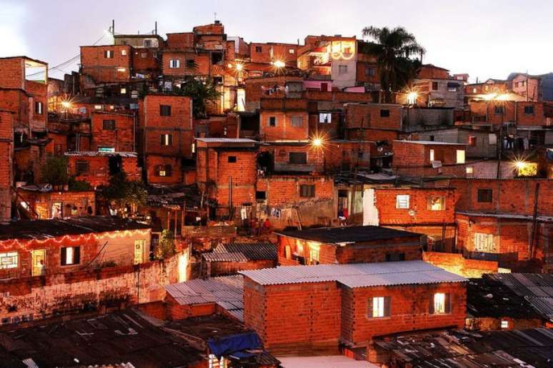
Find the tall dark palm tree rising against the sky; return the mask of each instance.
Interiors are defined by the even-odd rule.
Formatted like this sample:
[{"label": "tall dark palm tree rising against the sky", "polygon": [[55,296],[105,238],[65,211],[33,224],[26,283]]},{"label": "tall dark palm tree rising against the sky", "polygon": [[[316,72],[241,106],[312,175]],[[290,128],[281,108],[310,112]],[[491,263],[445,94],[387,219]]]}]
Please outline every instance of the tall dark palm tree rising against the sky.
[{"label": "tall dark palm tree rising against the sky", "polygon": [[424,48],[417,43],[415,36],[403,27],[365,27],[363,36],[369,37],[372,41],[361,44],[359,52],[377,58],[384,101],[392,102],[392,93],[401,91],[417,76],[421,62],[412,56],[424,53]]}]

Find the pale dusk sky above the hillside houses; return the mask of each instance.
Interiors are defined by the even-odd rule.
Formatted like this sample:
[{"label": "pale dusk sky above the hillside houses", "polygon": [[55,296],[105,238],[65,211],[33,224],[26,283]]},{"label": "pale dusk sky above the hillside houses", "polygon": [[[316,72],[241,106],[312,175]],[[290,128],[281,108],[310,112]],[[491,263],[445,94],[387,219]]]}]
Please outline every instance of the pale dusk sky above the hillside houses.
[{"label": "pale dusk sky above the hillside houses", "polygon": [[[404,26],[427,49],[425,63],[452,73],[505,78],[553,71],[552,1],[11,1],[0,0],[0,56],[26,55],[56,66],[118,33],[191,31],[214,13],[229,36],[303,43],[308,34],[361,37],[364,26]],[[7,44],[6,44],[7,41]],[[104,36],[99,44],[109,44]],[[76,68],[76,63],[64,68]],[[51,72],[60,77],[62,73]]]}]

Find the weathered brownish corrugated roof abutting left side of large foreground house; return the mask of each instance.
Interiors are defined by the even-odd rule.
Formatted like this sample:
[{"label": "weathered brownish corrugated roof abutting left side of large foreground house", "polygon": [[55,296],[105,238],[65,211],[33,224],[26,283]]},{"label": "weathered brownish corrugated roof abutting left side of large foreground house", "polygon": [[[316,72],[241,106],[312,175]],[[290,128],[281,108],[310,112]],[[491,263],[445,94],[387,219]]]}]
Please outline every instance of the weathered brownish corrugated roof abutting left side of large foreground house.
[{"label": "weathered brownish corrugated roof abutting left side of large foreground house", "polygon": [[231,315],[244,317],[244,279],[240,275],[190,280],[165,287],[179,305],[215,303]]}]

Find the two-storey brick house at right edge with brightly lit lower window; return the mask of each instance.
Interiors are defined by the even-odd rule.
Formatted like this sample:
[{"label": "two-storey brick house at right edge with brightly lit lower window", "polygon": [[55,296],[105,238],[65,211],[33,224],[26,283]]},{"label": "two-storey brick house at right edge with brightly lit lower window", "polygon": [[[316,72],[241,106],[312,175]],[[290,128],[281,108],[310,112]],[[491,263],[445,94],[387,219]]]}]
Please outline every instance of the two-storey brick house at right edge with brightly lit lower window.
[{"label": "two-storey brick house at right edge with brightly lit lower window", "polygon": [[553,226],[553,185],[550,182],[543,179],[452,180],[459,198],[455,209],[458,249],[467,257],[497,260],[500,267],[513,270],[552,269],[549,229]]}]

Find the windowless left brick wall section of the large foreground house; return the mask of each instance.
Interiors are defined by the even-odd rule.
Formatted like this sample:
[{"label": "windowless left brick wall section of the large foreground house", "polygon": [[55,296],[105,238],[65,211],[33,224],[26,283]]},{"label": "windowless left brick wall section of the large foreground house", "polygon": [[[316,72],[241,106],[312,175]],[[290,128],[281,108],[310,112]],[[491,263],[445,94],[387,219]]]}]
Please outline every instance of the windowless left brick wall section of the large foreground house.
[{"label": "windowless left brick wall section of the large foreground house", "polygon": [[336,282],[263,287],[244,277],[244,324],[272,354],[336,354],[340,319]]}]

